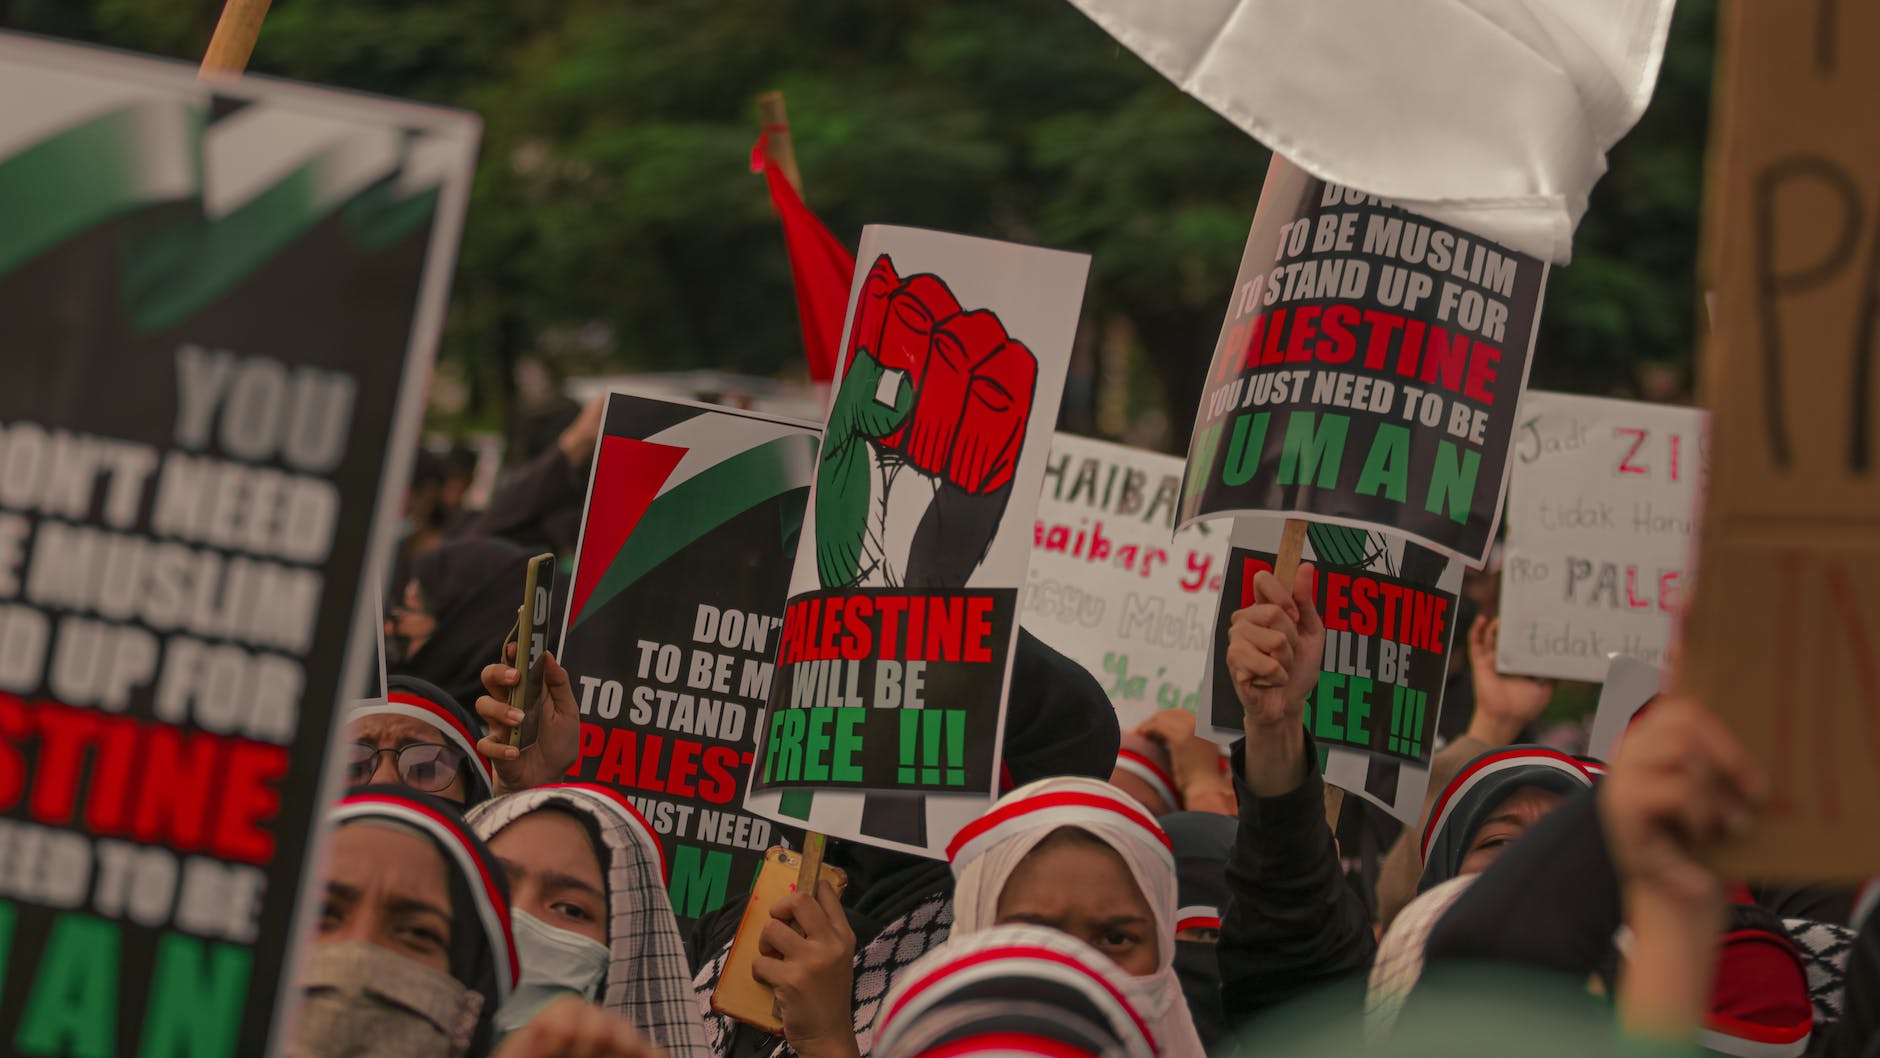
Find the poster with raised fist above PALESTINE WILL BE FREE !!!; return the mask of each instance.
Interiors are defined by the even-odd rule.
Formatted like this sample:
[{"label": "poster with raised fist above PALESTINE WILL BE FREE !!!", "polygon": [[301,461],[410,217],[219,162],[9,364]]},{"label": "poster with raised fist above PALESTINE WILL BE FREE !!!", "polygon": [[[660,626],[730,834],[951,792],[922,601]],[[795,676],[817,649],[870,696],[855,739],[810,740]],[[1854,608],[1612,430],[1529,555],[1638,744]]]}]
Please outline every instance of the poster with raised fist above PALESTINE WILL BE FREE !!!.
[{"label": "poster with raised fist above PALESTINE WILL BE FREE !!!", "polygon": [[746,806],[942,855],[998,782],[1090,259],[912,227],[869,227],[855,259]]}]

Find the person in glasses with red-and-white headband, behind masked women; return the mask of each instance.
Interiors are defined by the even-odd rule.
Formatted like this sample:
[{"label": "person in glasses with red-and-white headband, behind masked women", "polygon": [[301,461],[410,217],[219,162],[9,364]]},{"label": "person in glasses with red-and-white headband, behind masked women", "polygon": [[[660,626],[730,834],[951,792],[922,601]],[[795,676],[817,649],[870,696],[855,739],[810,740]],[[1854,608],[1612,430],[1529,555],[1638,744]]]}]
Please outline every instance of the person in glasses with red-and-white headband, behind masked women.
[{"label": "person in glasses with red-and-white headband, behind masked women", "polygon": [[406,786],[459,806],[487,801],[493,772],[476,748],[481,727],[440,688],[391,677],[384,699],[346,714],[346,786]]}]

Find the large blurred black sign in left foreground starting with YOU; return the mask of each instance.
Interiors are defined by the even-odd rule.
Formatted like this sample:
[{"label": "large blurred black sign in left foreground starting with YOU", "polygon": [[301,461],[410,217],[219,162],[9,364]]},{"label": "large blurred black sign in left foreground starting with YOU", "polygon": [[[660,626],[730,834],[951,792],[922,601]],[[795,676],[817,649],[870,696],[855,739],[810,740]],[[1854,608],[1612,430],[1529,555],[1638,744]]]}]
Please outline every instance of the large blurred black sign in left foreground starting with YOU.
[{"label": "large blurred black sign in left foreground starting with YOU", "polygon": [[0,1050],[265,1054],[478,126],[0,36]]}]

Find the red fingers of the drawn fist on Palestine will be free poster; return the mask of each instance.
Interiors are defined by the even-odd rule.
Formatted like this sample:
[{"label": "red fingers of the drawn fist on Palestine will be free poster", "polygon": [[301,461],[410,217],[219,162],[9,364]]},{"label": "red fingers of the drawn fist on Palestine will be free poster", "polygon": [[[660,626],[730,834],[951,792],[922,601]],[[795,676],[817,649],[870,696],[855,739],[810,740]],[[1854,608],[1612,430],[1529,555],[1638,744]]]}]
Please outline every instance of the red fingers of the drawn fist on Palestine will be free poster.
[{"label": "red fingers of the drawn fist on Palestine will be free poster", "polygon": [[963,312],[938,276],[901,280],[884,254],[863,280],[854,350],[908,372],[914,413],[882,438],[927,474],[966,492],[1011,483],[1032,413],[1038,359],[998,316]]}]

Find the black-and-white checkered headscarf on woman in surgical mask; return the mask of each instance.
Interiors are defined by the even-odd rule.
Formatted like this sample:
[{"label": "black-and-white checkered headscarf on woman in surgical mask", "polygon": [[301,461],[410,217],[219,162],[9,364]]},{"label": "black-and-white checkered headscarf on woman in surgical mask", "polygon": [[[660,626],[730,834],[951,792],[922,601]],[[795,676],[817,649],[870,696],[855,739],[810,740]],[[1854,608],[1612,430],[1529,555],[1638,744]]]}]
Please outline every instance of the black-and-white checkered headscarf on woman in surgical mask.
[{"label": "black-and-white checkered headscarf on woman in surgical mask", "polygon": [[483,840],[541,808],[572,812],[605,844],[607,983],[602,1005],[639,1026],[671,1058],[707,1058],[705,1032],[688,994],[692,979],[679,938],[660,842],[620,793],[560,784],[498,797],[470,812]]}]

